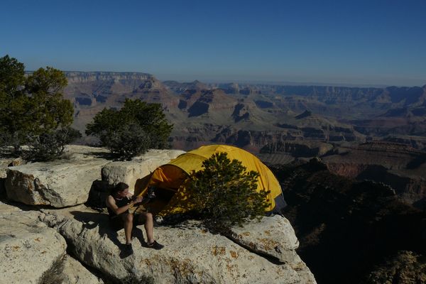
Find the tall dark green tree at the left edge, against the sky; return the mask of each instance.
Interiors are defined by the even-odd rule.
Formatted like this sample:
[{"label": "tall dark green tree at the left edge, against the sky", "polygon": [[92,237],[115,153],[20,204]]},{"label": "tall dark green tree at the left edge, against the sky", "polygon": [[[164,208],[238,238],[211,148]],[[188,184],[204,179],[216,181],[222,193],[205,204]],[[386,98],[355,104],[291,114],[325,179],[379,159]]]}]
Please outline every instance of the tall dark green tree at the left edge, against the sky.
[{"label": "tall dark green tree at the left edge, against the sky", "polygon": [[[24,144],[37,144],[43,137],[58,138],[70,133],[68,128],[74,109],[71,102],[62,97],[66,85],[67,78],[60,70],[40,68],[26,76],[23,63],[16,58],[9,55],[0,58],[2,145],[13,146],[18,153]],[[70,139],[63,138],[57,142],[60,141]],[[63,149],[63,145],[60,147]]]}]

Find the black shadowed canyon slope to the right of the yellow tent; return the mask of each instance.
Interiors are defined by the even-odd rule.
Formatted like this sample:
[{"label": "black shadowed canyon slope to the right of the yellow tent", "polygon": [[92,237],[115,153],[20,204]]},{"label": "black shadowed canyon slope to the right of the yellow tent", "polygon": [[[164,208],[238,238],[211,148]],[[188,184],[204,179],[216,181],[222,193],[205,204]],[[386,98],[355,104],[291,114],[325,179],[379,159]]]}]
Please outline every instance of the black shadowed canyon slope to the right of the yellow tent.
[{"label": "black shadowed canyon slope to the right of the yellow tent", "polygon": [[318,283],[425,283],[425,210],[382,182],[336,175],[318,158],[272,170]]}]

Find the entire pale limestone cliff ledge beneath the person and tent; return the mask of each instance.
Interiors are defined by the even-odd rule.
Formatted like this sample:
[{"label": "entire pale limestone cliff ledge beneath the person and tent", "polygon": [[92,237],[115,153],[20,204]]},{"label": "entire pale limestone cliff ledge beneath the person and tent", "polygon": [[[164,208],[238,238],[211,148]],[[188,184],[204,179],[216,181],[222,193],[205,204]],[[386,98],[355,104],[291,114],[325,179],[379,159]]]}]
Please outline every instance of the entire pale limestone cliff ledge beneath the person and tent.
[{"label": "entire pale limestone cliff ledge beneath the person and tent", "polygon": [[[87,166],[88,160],[95,159],[97,163],[92,171],[102,182],[113,185],[143,178],[158,163],[167,163],[179,154],[150,151],[124,164],[106,160],[102,153],[99,148],[73,148],[68,153],[72,158],[62,162],[78,165],[84,161]],[[64,188],[55,190],[55,198],[70,200],[61,197],[62,192],[66,192],[63,194],[84,195],[81,200],[87,200],[90,182],[80,187],[66,186],[72,184],[67,179],[81,176],[84,167],[73,167],[74,170],[67,167],[69,172],[62,175],[61,171],[51,170],[60,164],[58,161],[38,163],[38,170],[34,170],[37,166],[33,163],[6,171],[9,199],[2,196],[8,204],[0,204],[0,271],[6,283],[316,283],[314,275],[295,252],[299,242],[293,227],[278,215],[234,228],[228,236],[211,234],[195,220],[157,226],[155,239],[165,245],[160,251],[144,246],[144,230],[142,226],[137,227],[133,230],[134,253],[124,256],[121,253],[124,230],[111,230],[107,214],[81,202],[55,208],[53,202],[25,205],[21,200],[11,201],[11,197],[14,198],[11,192],[25,183],[7,182],[11,175],[17,176],[15,172],[32,176],[33,180],[27,184],[34,184],[34,180],[43,184],[38,187],[40,196],[48,196],[42,193],[45,189],[55,188],[55,182],[50,180],[63,180]],[[92,172],[89,168],[86,170]],[[41,178],[42,172],[48,173],[50,179]],[[25,196],[33,191],[21,193]],[[31,200],[28,196],[25,198]]]}]

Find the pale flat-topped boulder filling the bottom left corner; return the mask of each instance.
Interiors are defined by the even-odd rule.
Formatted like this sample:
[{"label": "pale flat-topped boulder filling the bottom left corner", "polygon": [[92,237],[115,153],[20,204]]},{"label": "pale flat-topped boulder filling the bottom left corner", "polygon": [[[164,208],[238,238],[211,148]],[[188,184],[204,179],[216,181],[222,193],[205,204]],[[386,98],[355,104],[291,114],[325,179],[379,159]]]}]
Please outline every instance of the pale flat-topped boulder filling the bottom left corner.
[{"label": "pale flat-topped boulder filling the bottom left corner", "polygon": [[65,255],[65,239],[40,214],[0,204],[1,283],[40,283]]}]

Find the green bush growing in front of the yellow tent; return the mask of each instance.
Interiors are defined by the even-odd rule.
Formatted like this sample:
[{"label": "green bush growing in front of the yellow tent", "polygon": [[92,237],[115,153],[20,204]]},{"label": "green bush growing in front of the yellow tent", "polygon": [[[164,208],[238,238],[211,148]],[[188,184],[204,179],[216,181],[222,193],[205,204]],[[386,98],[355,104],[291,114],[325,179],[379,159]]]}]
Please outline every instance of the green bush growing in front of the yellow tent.
[{"label": "green bush growing in front of the yellow tent", "polygon": [[229,160],[226,153],[212,155],[203,161],[202,168],[192,173],[187,189],[195,211],[209,229],[228,231],[265,214],[269,191],[257,191],[257,172],[247,172],[239,160]]}]

